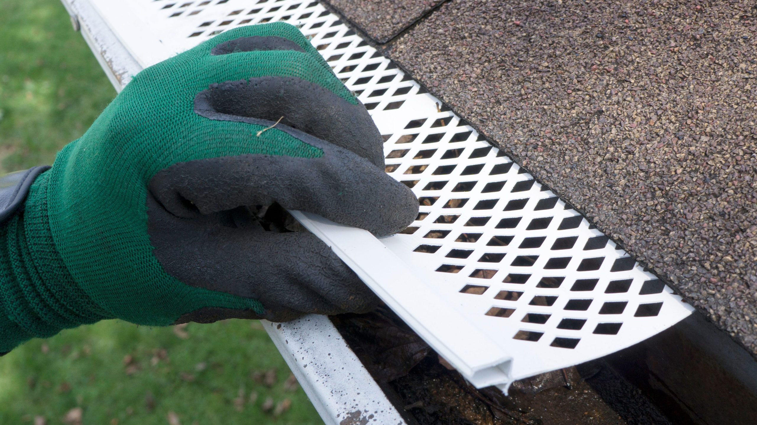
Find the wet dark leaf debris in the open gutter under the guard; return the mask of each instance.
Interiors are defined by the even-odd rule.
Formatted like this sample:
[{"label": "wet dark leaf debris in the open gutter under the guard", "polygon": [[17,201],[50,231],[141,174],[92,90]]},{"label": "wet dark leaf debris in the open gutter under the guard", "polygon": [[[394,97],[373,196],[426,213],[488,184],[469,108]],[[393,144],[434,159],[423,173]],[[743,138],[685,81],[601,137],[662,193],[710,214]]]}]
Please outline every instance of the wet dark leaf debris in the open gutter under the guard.
[{"label": "wet dark leaf debris in the open gutter under the guard", "polygon": [[330,318],[390,399],[419,425],[626,423],[576,368],[516,381],[508,397],[495,386],[475,389],[385,307]]}]

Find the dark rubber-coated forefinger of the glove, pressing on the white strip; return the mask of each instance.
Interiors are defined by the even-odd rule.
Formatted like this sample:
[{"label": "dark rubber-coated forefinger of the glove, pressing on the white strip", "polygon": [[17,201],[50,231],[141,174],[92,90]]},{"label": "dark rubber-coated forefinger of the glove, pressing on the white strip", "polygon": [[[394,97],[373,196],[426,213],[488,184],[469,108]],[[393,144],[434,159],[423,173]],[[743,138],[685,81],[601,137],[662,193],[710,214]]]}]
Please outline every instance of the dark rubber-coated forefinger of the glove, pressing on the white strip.
[{"label": "dark rubber-coated forefinger of the glove, pressing on the white strip", "polygon": [[151,194],[184,218],[277,202],[378,236],[397,233],[416,218],[413,192],[362,157],[286,126],[268,131],[288,132],[322,156],[251,154],[176,163],[151,178]]}]

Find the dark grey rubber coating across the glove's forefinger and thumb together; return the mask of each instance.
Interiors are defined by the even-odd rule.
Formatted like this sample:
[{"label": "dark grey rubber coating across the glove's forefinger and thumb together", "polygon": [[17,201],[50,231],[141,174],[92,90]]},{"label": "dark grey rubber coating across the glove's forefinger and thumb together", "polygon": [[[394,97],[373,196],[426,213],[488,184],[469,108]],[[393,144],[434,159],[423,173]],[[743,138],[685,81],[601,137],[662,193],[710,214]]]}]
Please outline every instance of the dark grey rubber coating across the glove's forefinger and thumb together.
[{"label": "dark grey rubber coating across the glove's forefinger and thumb together", "polygon": [[148,198],[155,256],[184,284],[260,300],[271,320],[369,310],[375,296],[313,234],[230,224],[229,212],[239,206],[273,202],[379,235],[400,231],[417,215],[413,193],[372,163],[288,131],[323,156],[240,155],[158,172]]}]

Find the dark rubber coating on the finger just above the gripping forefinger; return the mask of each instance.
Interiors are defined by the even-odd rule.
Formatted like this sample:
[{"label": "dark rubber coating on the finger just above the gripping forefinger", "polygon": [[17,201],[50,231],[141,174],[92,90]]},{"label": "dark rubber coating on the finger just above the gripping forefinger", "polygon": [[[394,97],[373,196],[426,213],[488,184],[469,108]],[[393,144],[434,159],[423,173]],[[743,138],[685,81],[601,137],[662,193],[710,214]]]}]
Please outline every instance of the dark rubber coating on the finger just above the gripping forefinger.
[{"label": "dark rubber coating on the finger just above the gripping forefinger", "polygon": [[321,85],[297,77],[263,76],[210,85],[195,98],[209,119],[266,119],[353,151],[384,168],[381,134],[366,107],[350,104]]}]

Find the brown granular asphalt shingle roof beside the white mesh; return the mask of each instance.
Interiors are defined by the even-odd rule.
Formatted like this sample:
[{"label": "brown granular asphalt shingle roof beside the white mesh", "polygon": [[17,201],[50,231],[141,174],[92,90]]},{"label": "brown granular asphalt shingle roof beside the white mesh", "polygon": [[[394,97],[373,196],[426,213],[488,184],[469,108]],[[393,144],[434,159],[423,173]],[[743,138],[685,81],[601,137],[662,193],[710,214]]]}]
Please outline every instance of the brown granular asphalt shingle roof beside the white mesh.
[{"label": "brown granular asphalt shingle roof beside the white mesh", "polygon": [[383,47],[757,353],[754,2],[451,0]]}]

